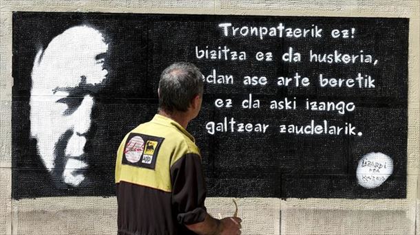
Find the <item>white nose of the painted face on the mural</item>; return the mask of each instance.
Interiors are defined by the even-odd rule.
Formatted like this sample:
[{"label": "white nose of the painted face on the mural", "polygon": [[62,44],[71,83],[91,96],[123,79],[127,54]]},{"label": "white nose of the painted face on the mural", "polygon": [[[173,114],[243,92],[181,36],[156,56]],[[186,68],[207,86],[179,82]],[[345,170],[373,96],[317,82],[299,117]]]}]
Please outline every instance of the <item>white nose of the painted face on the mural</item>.
[{"label": "white nose of the painted face on the mural", "polygon": [[90,95],[84,96],[75,115],[74,132],[76,135],[85,135],[89,131],[93,106],[94,98]]}]

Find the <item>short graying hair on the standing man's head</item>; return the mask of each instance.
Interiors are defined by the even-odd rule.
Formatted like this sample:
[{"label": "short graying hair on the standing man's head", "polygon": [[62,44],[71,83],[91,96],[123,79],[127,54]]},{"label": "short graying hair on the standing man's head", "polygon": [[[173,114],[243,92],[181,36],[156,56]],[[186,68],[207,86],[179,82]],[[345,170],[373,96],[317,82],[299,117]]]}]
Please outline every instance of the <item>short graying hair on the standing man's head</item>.
[{"label": "short graying hair on the standing man's head", "polygon": [[160,75],[159,109],[185,112],[195,96],[202,96],[203,89],[204,80],[196,65],[187,62],[169,65]]}]

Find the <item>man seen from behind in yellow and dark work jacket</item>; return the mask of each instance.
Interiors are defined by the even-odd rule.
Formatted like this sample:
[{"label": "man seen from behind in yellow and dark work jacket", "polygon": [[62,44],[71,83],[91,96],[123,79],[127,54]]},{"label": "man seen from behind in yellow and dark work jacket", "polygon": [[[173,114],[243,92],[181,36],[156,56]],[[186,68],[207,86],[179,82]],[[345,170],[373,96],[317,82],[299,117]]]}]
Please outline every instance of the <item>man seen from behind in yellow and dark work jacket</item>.
[{"label": "man seen from behind in yellow and dark work jacket", "polygon": [[125,135],[116,159],[118,234],[240,234],[241,219],[204,207],[200,150],[186,129],[198,115],[202,74],[174,63],[160,76],[158,114]]}]

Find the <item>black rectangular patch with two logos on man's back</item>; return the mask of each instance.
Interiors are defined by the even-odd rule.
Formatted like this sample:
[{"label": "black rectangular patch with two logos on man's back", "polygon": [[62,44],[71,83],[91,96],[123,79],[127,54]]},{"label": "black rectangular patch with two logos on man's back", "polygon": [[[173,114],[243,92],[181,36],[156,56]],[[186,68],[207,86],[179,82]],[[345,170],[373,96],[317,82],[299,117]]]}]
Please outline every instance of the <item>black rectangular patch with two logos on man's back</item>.
[{"label": "black rectangular patch with two logos on man's back", "polygon": [[162,137],[130,133],[125,142],[122,164],[154,170]]}]

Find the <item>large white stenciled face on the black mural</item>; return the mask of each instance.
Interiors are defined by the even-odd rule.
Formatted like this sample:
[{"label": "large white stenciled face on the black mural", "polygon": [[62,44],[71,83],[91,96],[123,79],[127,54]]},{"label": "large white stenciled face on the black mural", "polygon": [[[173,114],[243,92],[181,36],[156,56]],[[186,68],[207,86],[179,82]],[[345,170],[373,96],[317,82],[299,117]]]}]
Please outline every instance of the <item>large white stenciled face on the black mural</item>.
[{"label": "large white stenciled face on the black mural", "polygon": [[34,59],[30,135],[59,184],[77,187],[85,180],[87,133],[94,95],[107,79],[107,52],[101,32],[78,25],[53,38]]}]

